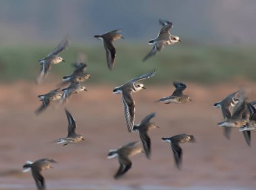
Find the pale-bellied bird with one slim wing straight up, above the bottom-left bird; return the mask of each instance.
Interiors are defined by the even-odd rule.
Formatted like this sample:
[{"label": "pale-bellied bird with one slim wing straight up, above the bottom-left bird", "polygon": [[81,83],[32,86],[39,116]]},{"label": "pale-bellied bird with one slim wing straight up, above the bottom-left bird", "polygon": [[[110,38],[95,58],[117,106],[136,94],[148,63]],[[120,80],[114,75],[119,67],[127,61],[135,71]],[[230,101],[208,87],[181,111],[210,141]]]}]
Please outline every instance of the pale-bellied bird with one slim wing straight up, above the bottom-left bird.
[{"label": "pale-bellied bird with one slim wing straight up, above the bottom-left bird", "polygon": [[84,136],[75,133],[76,124],[71,113],[67,111],[67,109],[65,109],[65,112],[67,115],[67,122],[69,122],[67,126],[67,137],[60,138],[59,140],[57,140],[57,144],[64,143],[63,146],[67,144],[77,143],[77,142],[80,142],[81,140],[84,140]]}]

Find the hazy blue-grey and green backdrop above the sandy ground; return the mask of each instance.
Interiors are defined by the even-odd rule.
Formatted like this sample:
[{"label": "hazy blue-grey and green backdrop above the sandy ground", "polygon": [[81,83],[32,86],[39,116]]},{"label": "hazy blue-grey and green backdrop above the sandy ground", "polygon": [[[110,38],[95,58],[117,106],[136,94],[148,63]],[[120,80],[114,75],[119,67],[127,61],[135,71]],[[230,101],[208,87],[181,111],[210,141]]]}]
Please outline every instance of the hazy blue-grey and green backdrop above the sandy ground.
[{"label": "hazy blue-grey and green backdrop above the sandy ground", "polygon": [[[53,66],[57,80],[71,73],[77,52],[86,53],[91,83],[128,80],[152,68],[162,73],[153,83],[255,80],[255,7],[253,0],[1,1],[0,79],[34,81],[37,61],[69,34],[71,46],[61,52],[67,63]],[[171,33],[183,42],[143,63],[159,18],[172,21]],[[117,64],[110,72],[102,42],[93,36],[115,29],[124,30],[125,40],[115,42]]]}]

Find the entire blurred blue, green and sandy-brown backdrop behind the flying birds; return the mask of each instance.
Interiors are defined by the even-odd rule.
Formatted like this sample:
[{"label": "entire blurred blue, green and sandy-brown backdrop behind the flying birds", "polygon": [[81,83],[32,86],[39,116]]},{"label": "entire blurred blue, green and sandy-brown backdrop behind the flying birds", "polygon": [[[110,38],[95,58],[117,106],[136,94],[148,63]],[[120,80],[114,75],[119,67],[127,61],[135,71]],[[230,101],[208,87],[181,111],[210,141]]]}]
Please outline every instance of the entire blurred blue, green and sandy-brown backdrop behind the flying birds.
[{"label": "entire blurred blue, green and sandy-brown backdrop behind the flying birds", "polygon": [[[50,157],[58,161],[43,173],[48,189],[222,190],[255,189],[255,132],[251,147],[238,129],[223,136],[220,109],[212,107],[226,95],[248,87],[256,99],[256,1],[0,1],[0,189],[35,189],[31,173],[22,173],[26,160]],[[169,19],[170,31],[182,42],[166,46],[146,62],[148,41],[156,38],[158,19]],[[125,40],[114,42],[116,64],[106,66],[102,42],[93,36],[123,29]],[[44,58],[65,34],[71,44],[61,52],[66,62],[53,65],[42,85],[34,83]],[[77,53],[86,55],[88,92],[73,95],[67,105],[51,105],[41,114],[38,95],[56,88],[72,73]],[[156,69],[143,81],[146,89],[133,95],[135,124],[151,112],[161,129],[149,132],[152,159],[132,158],[133,167],[120,180],[119,167],[108,160],[109,149],[139,140],[125,126],[123,103],[113,88]],[[172,81],[187,85],[193,102],[155,103],[174,90]],[[77,122],[85,141],[59,146],[67,133],[64,107]],[[164,136],[193,134],[195,144],[182,144],[183,169],[173,162]]]}]

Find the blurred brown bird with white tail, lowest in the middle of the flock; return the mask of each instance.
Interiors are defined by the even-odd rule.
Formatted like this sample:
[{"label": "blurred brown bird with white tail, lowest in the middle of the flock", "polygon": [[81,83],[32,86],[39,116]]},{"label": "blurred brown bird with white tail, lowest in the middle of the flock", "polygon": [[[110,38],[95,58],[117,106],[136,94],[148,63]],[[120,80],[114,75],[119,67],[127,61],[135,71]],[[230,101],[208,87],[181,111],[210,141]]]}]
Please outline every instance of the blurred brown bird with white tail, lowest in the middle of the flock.
[{"label": "blurred brown bird with white tail, lowest in the middle of the flock", "polygon": [[117,150],[110,150],[108,153],[108,158],[118,158],[119,160],[119,170],[115,174],[114,178],[119,179],[123,176],[129,169],[131,169],[132,162],[128,156],[134,156],[142,152],[142,149],[136,146],[138,142],[130,142],[124,146],[119,147]]}]

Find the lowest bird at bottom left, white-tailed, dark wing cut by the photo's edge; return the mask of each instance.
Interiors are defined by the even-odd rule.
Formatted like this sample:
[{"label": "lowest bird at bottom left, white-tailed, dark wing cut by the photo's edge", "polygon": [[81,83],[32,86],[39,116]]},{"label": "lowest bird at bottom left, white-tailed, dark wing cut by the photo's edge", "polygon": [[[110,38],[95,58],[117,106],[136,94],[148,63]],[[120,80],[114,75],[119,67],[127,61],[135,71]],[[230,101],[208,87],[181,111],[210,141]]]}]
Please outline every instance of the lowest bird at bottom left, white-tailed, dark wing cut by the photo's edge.
[{"label": "lowest bird at bottom left, white-tailed, dark wing cut by the photo's edge", "polygon": [[23,172],[28,172],[31,170],[32,177],[36,182],[36,187],[38,190],[45,190],[45,181],[41,172],[46,169],[51,169],[51,163],[57,163],[55,160],[51,158],[42,158],[40,160],[36,160],[35,162],[27,161],[23,166]]}]

